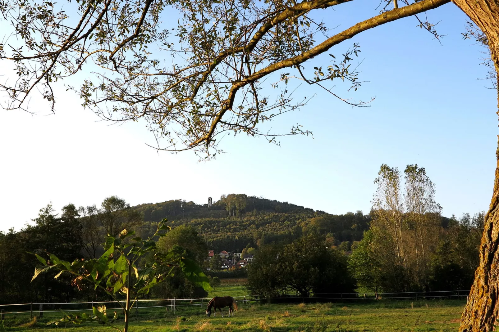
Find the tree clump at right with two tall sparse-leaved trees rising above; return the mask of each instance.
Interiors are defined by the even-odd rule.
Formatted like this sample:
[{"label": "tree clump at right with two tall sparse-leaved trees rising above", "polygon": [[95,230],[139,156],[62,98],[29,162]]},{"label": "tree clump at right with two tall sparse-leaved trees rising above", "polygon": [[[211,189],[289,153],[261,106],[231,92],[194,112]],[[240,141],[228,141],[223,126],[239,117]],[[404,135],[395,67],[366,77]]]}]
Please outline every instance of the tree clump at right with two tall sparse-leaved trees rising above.
[{"label": "tree clump at right with two tall sparse-leaved trees rising above", "polygon": [[[443,219],[426,170],[382,165],[371,227],[350,257],[360,287],[371,290],[468,290],[479,264],[484,212]],[[403,182],[403,183],[402,183]]]}]

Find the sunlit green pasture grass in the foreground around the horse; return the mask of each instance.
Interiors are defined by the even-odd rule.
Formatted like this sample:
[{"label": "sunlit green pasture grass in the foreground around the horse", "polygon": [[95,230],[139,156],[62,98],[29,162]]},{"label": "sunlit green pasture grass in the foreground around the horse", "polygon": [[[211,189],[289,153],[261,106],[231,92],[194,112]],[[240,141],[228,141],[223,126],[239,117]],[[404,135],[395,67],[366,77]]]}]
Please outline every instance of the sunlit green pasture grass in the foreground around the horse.
[{"label": "sunlit green pasture grass in the foreground around the horse", "polygon": [[[205,307],[179,309],[177,313],[165,309],[151,309],[139,313],[130,323],[130,332],[450,332],[457,331],[464,301],[389,301],[366,303],[311,304],[239,304],[234,317],[207,319]],[[224,310],[227,315],[228,310]],[[6,317],[7,331],[16,332],[86,332],[113,331],[99,325],[45,327],[49,316],[24,326],[20,319]],[[29,317],[28,317],[29,318]],[[25,321],[27,322],[27,321]],[[14,324],[15,323],[15,324]],[[118,321],[122,324],[122,321]],[[115,330],[114,330],[115,331]]]}]

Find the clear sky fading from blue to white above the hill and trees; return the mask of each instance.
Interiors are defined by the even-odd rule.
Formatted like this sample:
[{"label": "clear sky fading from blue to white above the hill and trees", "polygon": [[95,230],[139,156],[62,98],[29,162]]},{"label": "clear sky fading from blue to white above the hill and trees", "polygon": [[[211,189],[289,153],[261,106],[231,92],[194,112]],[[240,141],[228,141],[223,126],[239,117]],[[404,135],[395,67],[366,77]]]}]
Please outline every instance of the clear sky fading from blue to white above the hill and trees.
[{"label": "clear sky fading from blue to white above the hill and trees", "polygon": [[[376,15],[377,4],[357,0],[319,14],[340,31]],[[286,130],[299,123],[313,138],[286,137],[275,146],[261,138],[225,137],[227,153],[209,162],[148,147],[153,137],[144,123],[100,121],[63,86],[57,87],[54,115],[36,100],[30,104],[35,115],[0,110],[0,231],[21,229],[50,202],[60,211],[68,203],[99,205],[110,195],[136,205],[170,199],[202,204],[209,196],[246,193],[335,214],[368,212],[381,164],[401,171],[408,164],[425,167],[443,215],[487,210],[498,118],[496,92],[479,80],[486,76],[483,47],[462,38],[466,16],[454,4],[429,17],[441,21],[441,43],[408,17],[332,49],[341,54],[360,44],[366,83],[356,92],[341,86],[335,92],[355,100],[375,97],[370,107],[352,108],[301,86],[298,94],[315,97],[272,126]],[[326,61],[318,57],[307,65]]]}]

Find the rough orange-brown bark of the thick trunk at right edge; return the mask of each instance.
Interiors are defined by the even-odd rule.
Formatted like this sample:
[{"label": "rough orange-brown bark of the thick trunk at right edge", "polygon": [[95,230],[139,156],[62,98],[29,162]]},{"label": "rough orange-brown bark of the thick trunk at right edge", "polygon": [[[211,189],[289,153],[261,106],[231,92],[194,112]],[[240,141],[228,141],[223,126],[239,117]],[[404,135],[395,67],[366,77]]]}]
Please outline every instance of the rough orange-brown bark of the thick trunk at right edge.
[{"label": "rough orange-brown bark of the thick trunk at right edge", "polygon": [[[496,71],[499,72],[499,0],[453,0],[453,2],[487,35],[491,57],[496,66]],[[498,324],[499,142],[496,157],[496,179],[494,181],[491,205],[485,217],[485,228],[480,244],[480,266],[475,272],[475,281],[461,318],[460,332],[495,331],[495,325]]]}]

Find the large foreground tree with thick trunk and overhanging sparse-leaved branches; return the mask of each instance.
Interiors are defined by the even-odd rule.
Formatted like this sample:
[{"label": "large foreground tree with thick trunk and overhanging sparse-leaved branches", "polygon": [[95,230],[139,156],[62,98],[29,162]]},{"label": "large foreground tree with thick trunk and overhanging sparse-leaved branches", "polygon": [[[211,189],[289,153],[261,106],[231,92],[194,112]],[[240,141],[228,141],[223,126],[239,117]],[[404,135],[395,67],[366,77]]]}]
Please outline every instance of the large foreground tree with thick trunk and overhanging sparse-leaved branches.
[{"label": "large foreground tree with thick trunk and overhanging sparse-leaved branches", "polygon": [[[293,101],[286,90],[291,76],[334,96],[327,83],[343,80],[353,89],[359,85],[349,66],[358,45],[327,68],[310,72],[304,62],[362,31],[450,0],[401,0],[401,5],[394,0],[393,9],[386,0],[379,15],[329,35],[312,13],[336,5],[355,6],[347,2],[352,0],[77,0],[63,6],[4,0],[0,23],[10,25],[7,34],[13,32],[20,39],[5,37],[0,44],[0,59],[12,61],[18,74],[15,83],[1,87],[10,96],[8,108],[26,109],[33,91],[40,90],[53,103],[52,83],[84,69],[94,75],[75,88],[83,105],[95,107],[109,120],[145,119],[156,138],[164,139],[158,143],[161,149],[194,150],[209,157],[217,151],[217,136],[228,131],[263,135],[272,142],[275,135],[260,131],[261,124],[304,103]],[[453,2],[485,33],[498,70],[499,1]],[[178,18],[176,27],[161,22],[172,16]],[[421,25],[436,35],[430,22]],[[162,61],[158,50],[170,58]],[[272,84],[280,88],[275,99],[262,85],[272,73],[279,75]],[[284,134],[309,132],[297,125]],[[461,331],[491,331],[498,318],[498,211],[499,163],[481,265]]]}]

